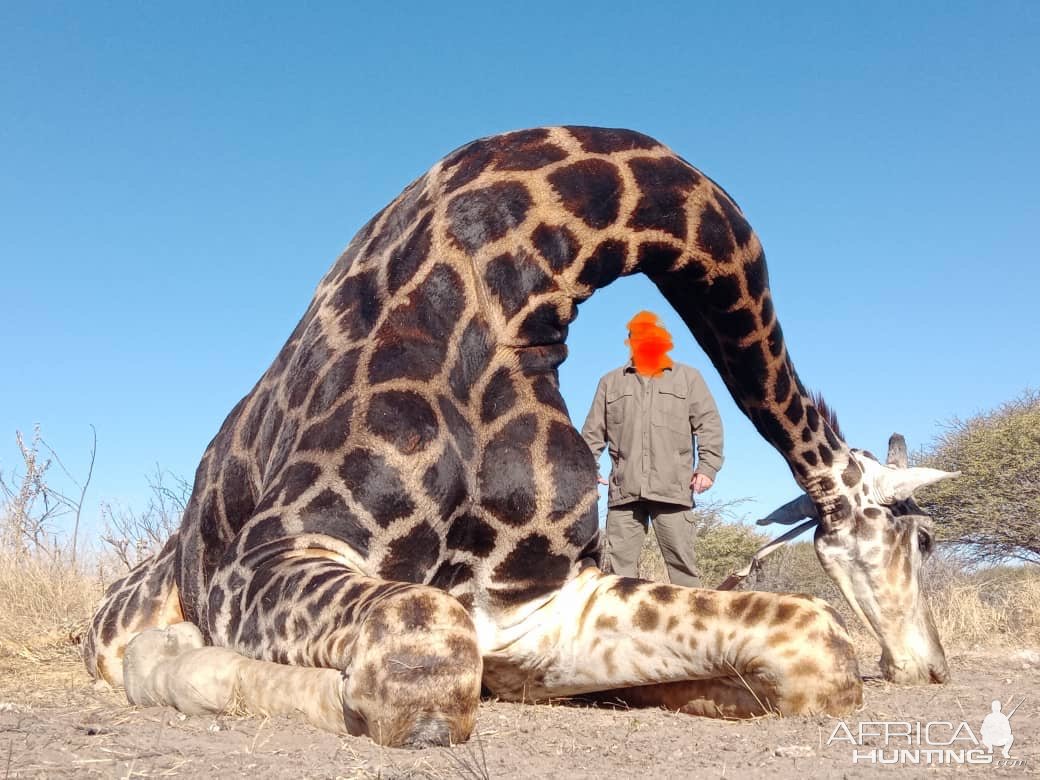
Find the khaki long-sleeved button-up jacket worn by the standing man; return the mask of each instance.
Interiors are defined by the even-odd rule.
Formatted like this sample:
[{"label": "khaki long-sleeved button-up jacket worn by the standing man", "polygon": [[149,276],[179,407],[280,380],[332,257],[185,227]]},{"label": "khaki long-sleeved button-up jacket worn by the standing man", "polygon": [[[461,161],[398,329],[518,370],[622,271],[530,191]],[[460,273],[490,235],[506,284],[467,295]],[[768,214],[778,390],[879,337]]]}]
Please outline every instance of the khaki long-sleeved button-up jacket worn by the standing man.
[{"label": "khaki long-sleeved button-up jacket worn by the standing man", "polygon": [[696,368],[676,363],[660,376],[640,376],[629,363],[599,381],[581,436],[599,461],[610,454],[607,505],[648,499],[693,506],[697,471],[722,468],[722,419]]}]

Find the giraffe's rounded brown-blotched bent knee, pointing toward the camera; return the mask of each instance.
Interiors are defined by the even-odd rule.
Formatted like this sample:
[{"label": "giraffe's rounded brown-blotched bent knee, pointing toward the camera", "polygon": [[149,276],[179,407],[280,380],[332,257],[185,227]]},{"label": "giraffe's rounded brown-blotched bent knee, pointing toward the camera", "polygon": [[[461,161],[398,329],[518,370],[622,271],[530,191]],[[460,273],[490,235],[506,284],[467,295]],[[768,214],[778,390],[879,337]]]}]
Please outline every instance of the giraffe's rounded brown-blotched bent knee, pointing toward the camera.
[{"label": "giraffe's rounded brown-blotched bent knee, pointing toward the camera", "polygon": [[417,587],[382,599],[361,626],[344,706],[381,745],[460,743],[476,719],[480,675],[469,615],[447,594]]}]

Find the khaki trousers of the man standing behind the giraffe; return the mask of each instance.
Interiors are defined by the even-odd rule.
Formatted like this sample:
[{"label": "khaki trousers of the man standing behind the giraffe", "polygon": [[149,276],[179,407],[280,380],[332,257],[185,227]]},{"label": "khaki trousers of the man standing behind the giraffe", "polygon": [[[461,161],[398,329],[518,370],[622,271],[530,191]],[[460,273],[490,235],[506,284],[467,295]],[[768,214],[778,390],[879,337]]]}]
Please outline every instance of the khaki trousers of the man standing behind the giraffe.
[{"label": "khaki trousers of the man standing behind the giraffe", "polygon": [[697,538],[694,513],[674,503],[641,500],[607,510],[606,544],[614,573],[622,577],[639,576],[640,550],[650,523],[672,584],[700,588],[694,555]]}]

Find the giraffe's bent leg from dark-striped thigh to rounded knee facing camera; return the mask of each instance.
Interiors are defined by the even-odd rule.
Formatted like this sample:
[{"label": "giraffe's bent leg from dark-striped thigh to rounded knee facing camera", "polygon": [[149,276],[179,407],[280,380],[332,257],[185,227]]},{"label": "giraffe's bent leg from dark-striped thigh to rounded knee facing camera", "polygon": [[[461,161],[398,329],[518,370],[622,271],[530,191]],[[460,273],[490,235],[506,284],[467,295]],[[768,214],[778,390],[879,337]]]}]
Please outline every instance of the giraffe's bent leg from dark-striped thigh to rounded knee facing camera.
[{"label": "giraffe's bent leg from dark-striped thigh to rounded knee facing camera", "polygon": [[[306,539],[217,570],[209,592],[214,644],[280,665],[337,670],[346,730],[381,745],[465,740],[482,673],[466,609],[427,586],[365,576],[328,550],[302,548]],[[267,679],[256,672],[242,697],[261,696],[255,688]]]}]

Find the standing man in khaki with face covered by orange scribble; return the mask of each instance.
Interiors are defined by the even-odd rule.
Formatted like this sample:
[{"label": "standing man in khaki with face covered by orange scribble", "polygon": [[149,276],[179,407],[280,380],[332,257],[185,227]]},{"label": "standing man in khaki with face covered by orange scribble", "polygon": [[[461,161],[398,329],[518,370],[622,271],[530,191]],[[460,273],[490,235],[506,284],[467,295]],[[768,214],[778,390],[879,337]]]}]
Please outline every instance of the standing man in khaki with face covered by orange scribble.
[{"label": "standing man in khaki with face covered by orange scribble", "polygon": [[[606,540],[615,574],[638,574],[653,523],[674,584],[699,587],[693,494],[722,468],[722,419],[701,374],[668,357],[672,337],[656,314],[628,323],[631,360],[599,381],[581,436],[599,461],[610,454]],[[697,469],[693,441],[697,438]]]}]

